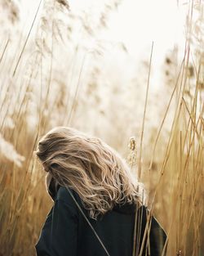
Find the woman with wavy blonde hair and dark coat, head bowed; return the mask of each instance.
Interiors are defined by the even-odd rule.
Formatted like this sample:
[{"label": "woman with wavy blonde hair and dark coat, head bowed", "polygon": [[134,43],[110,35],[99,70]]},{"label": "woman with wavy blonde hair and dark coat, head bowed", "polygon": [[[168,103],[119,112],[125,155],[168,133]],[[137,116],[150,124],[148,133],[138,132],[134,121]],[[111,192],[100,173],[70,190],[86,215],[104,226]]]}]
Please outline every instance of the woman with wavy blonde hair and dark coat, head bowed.
[{"label": "woman with wavy blonde hair and dark coat, head bowed", "polygon": [[159,256],[166,233],[144,206],[144,189],[125,160],[104,141],[56,127],[36,151],[54,204],[38,256]]}]

